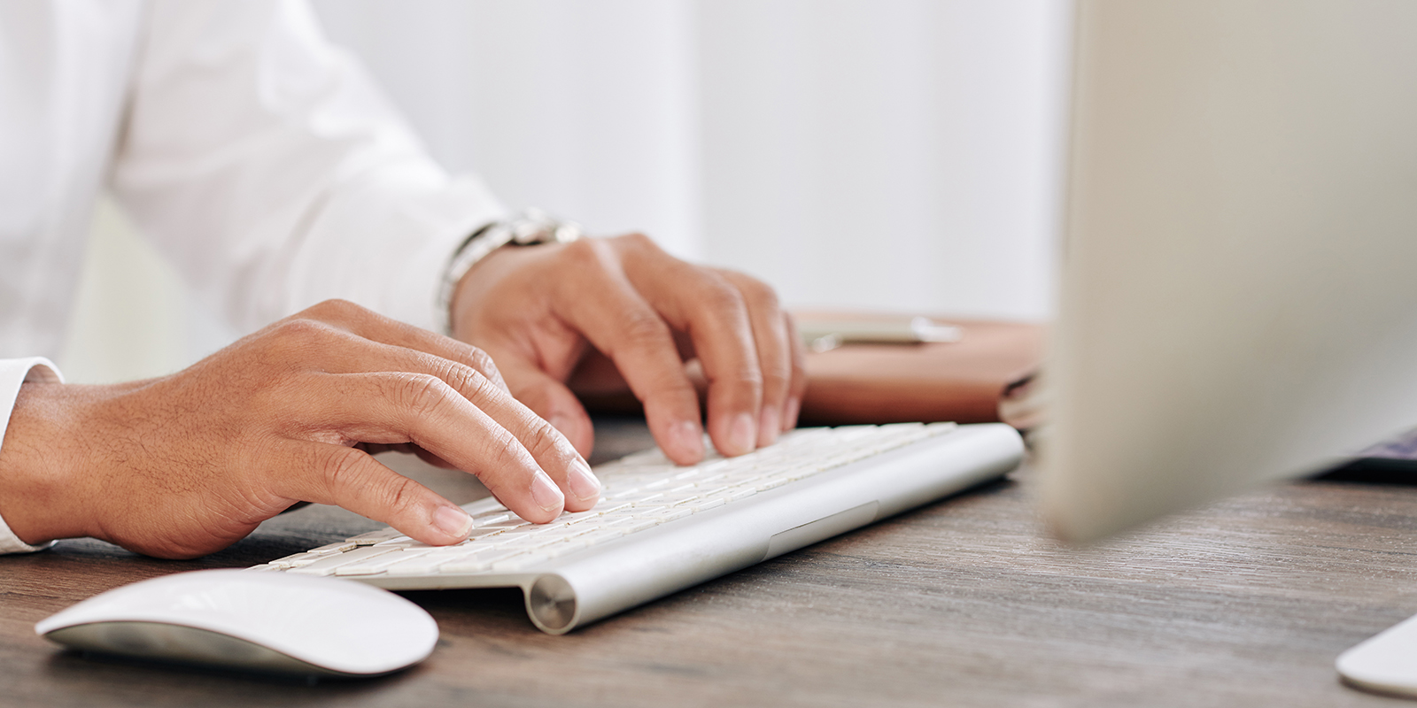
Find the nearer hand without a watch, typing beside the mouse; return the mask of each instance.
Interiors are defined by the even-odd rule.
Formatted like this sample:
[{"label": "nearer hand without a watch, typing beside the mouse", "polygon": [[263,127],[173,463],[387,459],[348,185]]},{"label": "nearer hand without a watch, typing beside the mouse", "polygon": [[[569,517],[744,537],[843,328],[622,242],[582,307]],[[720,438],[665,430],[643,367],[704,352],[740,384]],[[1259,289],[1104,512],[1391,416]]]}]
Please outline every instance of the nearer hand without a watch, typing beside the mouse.
[{"label": "nearer hand without a watch, typing beside the mouse", "polygon": [[163,558],[221,549],[298,501],[427,544],[466,538],[465,511],[370,456],[388,447],[476,474],[529,521],[599,494],[486,354],[332,300],[170,377],[26,384],[0,450],[0,513],[31,544],[88,535]]}]

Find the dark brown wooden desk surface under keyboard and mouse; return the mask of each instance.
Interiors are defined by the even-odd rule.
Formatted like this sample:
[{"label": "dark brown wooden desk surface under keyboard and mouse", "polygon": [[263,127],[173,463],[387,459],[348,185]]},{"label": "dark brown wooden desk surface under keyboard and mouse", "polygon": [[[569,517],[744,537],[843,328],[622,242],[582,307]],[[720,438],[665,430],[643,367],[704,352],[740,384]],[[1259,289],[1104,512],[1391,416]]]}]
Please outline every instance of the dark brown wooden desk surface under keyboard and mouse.
[{"label": "dark brown wooden desk surface under keyboard and mouse", "polygon": [[[648,440],[608,428],[621,453]],[[33,632],[99,590],[373,525],[309,507],[191,562],[96,541],[0,558],[0,705],[1379,705],[1394,702],[1340,685],[1333,658],[1417,613],[1414,487],[1288,484],[1076,551],[1006,481],[564,637],[533,629],[517,592],[408,593],[442,641],[373,681],[109,663]]]}]

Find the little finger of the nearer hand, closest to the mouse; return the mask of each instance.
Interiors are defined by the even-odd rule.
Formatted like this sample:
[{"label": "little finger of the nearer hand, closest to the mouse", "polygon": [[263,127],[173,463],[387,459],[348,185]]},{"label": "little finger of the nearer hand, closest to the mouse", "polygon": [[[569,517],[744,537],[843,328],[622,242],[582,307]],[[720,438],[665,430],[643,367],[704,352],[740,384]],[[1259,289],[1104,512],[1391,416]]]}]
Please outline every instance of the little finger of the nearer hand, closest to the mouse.
[{"label": "little finger of the nearer hand, closest to the mouse", "polygon": [[279,462],[268,469],[281,496],[334,504],[429,545],[456,544],[472,532],[466,511],[363,450],[289,440],[273,459]]}]

